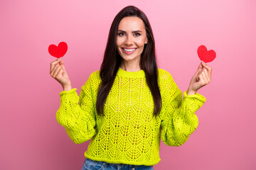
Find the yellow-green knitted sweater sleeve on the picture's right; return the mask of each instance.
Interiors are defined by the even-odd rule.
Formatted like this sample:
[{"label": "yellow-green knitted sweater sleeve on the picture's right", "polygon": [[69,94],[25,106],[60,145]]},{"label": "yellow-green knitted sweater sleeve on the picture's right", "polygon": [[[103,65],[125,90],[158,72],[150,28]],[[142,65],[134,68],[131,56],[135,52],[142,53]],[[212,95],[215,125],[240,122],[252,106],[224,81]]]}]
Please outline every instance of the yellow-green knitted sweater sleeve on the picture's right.
[{"label": "yellow-green knitted sweater sleeve on the picture's right", "polygon": [[180,146],[188,140],[198,126],[195,112],[203,106],[206,98],[201,94],[187,95],[174,82],[169,72],[162,75],[161,97],[164,118],[161,120],[161,140],[169,146]]}]

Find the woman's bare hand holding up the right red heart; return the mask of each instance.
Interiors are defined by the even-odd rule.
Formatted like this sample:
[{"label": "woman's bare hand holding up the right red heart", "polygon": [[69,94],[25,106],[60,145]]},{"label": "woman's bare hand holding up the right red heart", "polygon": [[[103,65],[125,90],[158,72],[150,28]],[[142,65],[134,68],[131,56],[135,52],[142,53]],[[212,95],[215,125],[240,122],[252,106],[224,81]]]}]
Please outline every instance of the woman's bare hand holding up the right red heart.
[{"label": "woman's bare hand holding up the right red heart", "polygon": [[[204,69],[203,69],[204,68]],[[188,95],[196,94],[196,91],[200,89],[202,86],[206,86],[206,84],[210,83],[212,68],[207,64],[200,63],[196,74],[193,75],[191,82],[188,86]]]}]

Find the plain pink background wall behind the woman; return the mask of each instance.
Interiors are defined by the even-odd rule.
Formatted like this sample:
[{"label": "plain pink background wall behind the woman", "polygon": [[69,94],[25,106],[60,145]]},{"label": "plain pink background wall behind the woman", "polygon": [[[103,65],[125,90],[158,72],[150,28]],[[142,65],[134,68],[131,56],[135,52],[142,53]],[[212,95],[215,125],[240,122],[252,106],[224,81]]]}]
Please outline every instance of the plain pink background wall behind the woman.
[{"label": "plain pink background wall behind the woman", "polygon": [[134,5],[148,16],[159,67],[186,91],[206,45],[212,81],[198,129],[181,147],[161,142],[154,169],[256,169],[256,3],[215,1],[0,1],[0,169],[81,169],[90,141],[75,145],[55,113],[63,89],[50,77],[48,45],[68,43],[73,88],[100,69],[114,16]]}]

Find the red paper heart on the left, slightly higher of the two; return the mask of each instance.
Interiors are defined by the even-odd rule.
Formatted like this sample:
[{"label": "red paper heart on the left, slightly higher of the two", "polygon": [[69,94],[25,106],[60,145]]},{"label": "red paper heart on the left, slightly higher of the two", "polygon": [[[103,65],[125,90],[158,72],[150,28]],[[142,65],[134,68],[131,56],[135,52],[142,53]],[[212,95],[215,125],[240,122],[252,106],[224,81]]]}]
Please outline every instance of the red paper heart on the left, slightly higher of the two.
[{"label": "red paper heart on the left, slightly higher of the two", "polygon": [[58,47],[56,45],[49,45],[48,47],[48,52],[50,55],[57,58],[63,57],[67,51],[68,45],[66,42],[60,42]]}]

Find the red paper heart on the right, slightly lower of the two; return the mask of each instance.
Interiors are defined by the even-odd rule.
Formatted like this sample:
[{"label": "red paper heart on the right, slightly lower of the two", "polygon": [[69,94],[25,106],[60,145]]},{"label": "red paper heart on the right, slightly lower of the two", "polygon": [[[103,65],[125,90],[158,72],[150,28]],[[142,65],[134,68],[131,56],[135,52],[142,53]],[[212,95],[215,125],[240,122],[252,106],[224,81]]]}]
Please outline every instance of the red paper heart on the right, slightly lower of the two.
[{"label": "red paper heart on the right, slightly lower of the two", "polygon": [[213,50],[207,50],[206,46],[200,45],[198,47],[198,57],[203,62],[212,62],[216,57],[216,52]]}]

